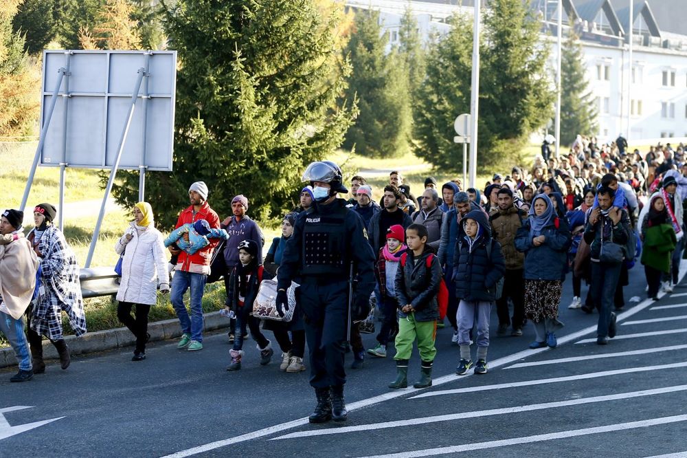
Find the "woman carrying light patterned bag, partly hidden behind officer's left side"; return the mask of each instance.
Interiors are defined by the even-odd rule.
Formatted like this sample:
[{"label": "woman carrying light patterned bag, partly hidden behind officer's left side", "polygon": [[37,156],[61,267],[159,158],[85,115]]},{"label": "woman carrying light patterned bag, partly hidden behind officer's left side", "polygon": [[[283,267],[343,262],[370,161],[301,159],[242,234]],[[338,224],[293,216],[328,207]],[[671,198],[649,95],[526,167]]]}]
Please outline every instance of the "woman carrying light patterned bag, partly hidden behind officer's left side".
[{"label": "woman carrying light patterned bag, partly hidden behind officer's left side", "polygon": [[[264,258],[264,270],[267,270],[273,276],[277,275],[277,269],[280,263],[282,263],[284,246],[286,246],[286,241],[293,235],[293,225],[297,216],[297,213],[287,213],[284,215],[284,219],[282,219],[282,237],[275,237],[273,239],[269,252],[267,252],[267,256]],[[300,317],[299,308],[296,303],[291,322],[284,323],[282,321],[264,320],[262,325],[262,330],[274,333],[274,338],[282,350],[282,364],[279,369],[289,373],[301,372],[306,369],[303,364],[305,328],[303,326],[303,319]],[[291,331],[291,338],[289,338],[289,331]]]}]

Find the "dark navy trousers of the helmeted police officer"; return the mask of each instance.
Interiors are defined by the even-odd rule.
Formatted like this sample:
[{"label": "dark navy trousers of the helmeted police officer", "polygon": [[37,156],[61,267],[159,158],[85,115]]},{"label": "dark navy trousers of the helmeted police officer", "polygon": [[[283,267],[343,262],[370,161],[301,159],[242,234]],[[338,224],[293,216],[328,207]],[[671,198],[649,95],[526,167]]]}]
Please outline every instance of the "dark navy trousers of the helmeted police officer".
[{"label": "dark navy trousers of the helmeted police officer", "polygon": [[310,351],[310,384],[314,388],[343,386],[348,281],[324,284],[306,280],[300,285],[300,300]]}]

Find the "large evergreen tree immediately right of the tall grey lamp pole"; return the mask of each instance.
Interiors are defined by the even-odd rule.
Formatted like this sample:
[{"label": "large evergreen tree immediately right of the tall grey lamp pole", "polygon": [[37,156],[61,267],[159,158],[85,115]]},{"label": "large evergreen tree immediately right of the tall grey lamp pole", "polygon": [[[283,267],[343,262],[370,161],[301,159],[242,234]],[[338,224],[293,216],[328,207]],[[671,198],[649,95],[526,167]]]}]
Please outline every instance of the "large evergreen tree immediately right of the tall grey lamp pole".
[{"label": "large evergreen tree immediately right of the tall grey lamp pole", "polygon": [[548,47],[527,2],[491,0],[480,51],[480,166],[512,159],[554,102]]}]

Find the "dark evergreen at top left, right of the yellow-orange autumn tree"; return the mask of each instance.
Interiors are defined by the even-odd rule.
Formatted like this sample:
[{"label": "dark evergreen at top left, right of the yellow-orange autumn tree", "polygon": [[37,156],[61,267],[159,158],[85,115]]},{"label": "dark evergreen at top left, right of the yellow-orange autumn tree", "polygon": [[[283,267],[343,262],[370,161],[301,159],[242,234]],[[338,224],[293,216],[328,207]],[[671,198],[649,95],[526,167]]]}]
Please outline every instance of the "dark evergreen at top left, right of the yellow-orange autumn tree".
[{"label": "dark evergreen at top left, right of the yellow-orange autumn tree", "polygon": [[30,54],[42,52],[55,38],[56,13],[54,0],[24,0],[12,19],[14,32],[24,36]]}]

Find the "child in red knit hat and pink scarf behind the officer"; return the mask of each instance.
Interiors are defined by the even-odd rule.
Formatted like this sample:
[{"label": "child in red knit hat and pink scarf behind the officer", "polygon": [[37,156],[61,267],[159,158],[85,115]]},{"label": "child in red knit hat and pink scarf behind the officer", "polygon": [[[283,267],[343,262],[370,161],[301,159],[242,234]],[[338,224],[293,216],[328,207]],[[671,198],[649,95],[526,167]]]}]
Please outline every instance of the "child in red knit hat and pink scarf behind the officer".
[{"label": "child in red knit hat and pink scarf behind the officer", "polygon": [[387,243],[379,249],[377,263],[374,265],[379,292],[382,300],[382,313],[384,320],[377,334],[376,347],[368,349],[368,353],[379,358],[386,357],[387,343],[389,337],[398,323],[398,301],[396,301],[396,271],[398,263],[401,261],[401,254],[408,249],[403,243],[405,235],[403,226],[394,224],[387,230]]}]

